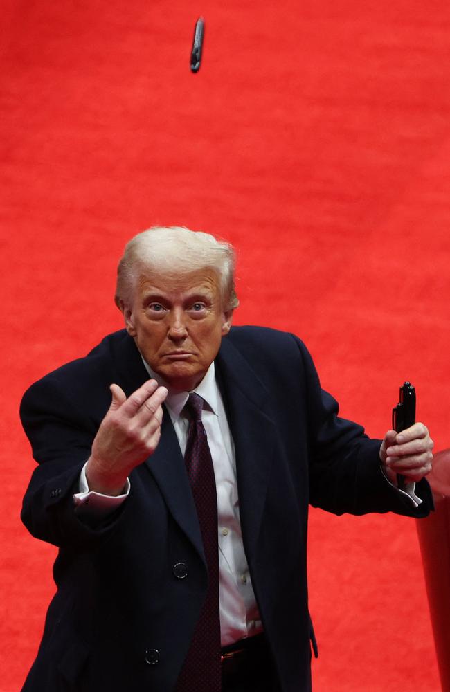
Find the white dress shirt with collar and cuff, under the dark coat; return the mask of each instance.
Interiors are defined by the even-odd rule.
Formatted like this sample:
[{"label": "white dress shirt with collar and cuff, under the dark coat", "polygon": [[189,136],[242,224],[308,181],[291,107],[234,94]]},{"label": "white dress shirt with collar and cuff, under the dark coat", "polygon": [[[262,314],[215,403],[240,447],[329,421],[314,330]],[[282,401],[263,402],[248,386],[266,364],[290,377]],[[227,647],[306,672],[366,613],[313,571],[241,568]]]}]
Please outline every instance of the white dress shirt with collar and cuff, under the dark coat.
[{"label": "white dress shirt with collar and cuff, under the dark coat", "polygon": [[[182,412],[188,401],[188,392],[170,392],[167,383],[152,372],[145,361],[144,365],[149,375],[169,390],[165,406],[172,420],[181,453],[184,455],[189,421]],[[243,637],[262,632],[262,623],[242,543],[235,448],[222,396],[215,381],[214,363],[211,363],[204,379],[193,391],[206,402],[201,420],[213,459],[217,491],[220,630],[222,646],[226,646]],[[84,467],[80,476],[80,492],[74,495],[75,504],[79,511],[86,512],[86,516],[89,513],[94,518],[104,518],[109,511],[114,511],[124,502],[129,487],[127,481],[123,495],[117,498],[89,491]]]}]

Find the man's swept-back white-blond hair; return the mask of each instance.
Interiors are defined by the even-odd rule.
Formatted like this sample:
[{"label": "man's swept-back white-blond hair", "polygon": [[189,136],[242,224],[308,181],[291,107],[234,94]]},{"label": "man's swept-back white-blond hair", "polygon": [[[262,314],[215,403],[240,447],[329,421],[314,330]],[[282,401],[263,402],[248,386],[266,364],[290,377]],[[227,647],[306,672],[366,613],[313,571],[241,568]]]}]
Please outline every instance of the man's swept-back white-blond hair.
[{"label": "man's swept-back white-blond hair", "polygon": [[143,273],[179,275],[212,268],[219,275],[222,304],[233,310],[239,304],[235,292],[233,247],[209,233],[182,226],[154,226],[143,230],[125,246],[117,268],[116,304],[130,303],[136,280]]}]

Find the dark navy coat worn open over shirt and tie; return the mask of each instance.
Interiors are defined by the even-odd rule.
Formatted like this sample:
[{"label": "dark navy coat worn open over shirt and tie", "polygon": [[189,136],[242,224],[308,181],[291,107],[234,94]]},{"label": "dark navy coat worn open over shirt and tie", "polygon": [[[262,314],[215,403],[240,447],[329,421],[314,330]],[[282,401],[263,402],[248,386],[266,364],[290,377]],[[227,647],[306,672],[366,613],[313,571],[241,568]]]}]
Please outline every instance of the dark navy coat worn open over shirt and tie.
[{"label": "dark navy coat worn open over shirt and tie", "polygon": [[[282,692],[310,689],[309,503],[333,513],[426,516],[381,473],[378,440],[337,417],[303,343],[234,327],[215,361],[235,442],[244,548]],[[24,690],[171,692],[207,584],[195,505],[170,417],[151,458],[131,475],[113,516],[87,525],[73,506],[81,468],[116,382],[127,396],[147,372],[126,331],[60,367],[24,396],[21,417],[39,465],[22,518],[59,547],[57,592]],[[188,575],[177,579],[174,565]],[[151,664],[149,663],[151,662]],[[208,686],[205,686],[207,692]],[[203,692],[203,691],[199,691]]]}]

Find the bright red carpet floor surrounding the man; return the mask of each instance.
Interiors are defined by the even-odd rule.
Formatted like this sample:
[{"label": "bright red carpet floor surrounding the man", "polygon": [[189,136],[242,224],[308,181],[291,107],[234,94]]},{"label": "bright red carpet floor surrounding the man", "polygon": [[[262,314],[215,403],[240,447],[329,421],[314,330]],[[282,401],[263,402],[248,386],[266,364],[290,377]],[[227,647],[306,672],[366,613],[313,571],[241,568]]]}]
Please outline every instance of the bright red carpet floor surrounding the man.
[{"label": "bright red carpet floor surrounding the man", "polygon": [[[229,239],[236,322],[299,334],[343,415],[398,386],[449,446],[450,6],[444,0],[3,0],[1,692],[19,689],[54,549],[19,523],[24,388],[121,326],[125,241]],[[204,62],[189,71],[206,18]],[[439,689],[414,522],[312,513],[316,692]]]}]

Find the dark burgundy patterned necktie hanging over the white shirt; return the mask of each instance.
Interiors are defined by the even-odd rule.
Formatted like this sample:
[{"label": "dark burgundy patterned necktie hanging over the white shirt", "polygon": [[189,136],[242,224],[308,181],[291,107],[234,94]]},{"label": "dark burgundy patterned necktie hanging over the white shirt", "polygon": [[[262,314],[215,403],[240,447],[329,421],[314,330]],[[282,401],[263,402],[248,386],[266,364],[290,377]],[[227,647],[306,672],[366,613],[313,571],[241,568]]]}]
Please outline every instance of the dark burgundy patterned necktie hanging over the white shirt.
[{"label": "dark burgundy patterned necktie hanging over the white shirt", "polygon": [[201,422],[204,400],[189,394],[185,409],[190,415],[184,460],[201,529],[208,565],[208,591],[199,621],[181,669],[176,692],[220,692],[219,549],[217,542],[217,495],[213,460]]}]

